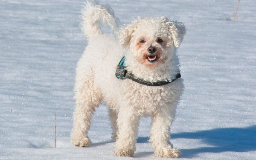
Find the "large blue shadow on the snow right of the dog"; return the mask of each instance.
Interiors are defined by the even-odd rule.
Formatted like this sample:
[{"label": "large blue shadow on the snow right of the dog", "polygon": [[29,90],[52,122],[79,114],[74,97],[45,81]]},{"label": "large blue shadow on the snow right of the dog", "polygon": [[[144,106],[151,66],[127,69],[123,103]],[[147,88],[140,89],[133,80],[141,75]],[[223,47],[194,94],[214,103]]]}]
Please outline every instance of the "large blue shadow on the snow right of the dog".
[{"label": "large blue shadow on the snow right of the dog", "polygon": [[[172,134],[172,139],[200,139],[211,147],[182,149],[181,157],[193,158],[200,153],[220,153],[225,151],[247,152],[256,150],[256,125],[247,128],[215,128],[205,131]],[[171,140],[172,140],[171,139]],[[193,144],[188,144],[191,147]]]}]

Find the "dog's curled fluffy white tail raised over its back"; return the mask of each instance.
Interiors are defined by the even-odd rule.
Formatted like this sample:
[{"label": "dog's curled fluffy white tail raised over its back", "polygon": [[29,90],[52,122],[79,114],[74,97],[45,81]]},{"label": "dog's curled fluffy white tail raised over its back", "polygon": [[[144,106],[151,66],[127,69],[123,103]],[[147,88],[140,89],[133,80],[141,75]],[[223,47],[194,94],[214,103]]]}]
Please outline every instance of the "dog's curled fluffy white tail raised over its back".
[{"label": "dog's curled fluffy white tail raised over its back", "polygon": [[88,38],[101,35],[100,22],[109,25],[112,30],[118,26],[119,19],[115,17],[113,9],[109,5],[99,5],[96,2],[85,2],[82,10],[81,29]]}]

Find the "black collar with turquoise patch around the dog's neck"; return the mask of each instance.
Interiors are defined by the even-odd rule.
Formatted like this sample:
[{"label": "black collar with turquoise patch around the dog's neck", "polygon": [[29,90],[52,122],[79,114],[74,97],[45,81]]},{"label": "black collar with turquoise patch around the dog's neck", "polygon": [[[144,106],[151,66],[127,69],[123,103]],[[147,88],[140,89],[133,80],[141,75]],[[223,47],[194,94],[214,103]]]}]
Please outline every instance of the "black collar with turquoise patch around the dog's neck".
[{"label": "black collar with turquoise patch around the dog's neck", "polygon": [[161,85],[169,84],[181,77],[180,73],[177,73],[175,76],[175,79],[171,79],[171,80],[166,79],[165,81],[157,81],[157,82],[145,81],[143,79],[136,78],[136,76],[134,76],[130,71],[125,70],[126,66],[125,66],[124,62],[125,62],[125,56],[123,56],[123,58],[121,59],[121,61],[118,64],[118,66],[116,67],[116,77],[118,79],[126,79],[127,78],[127,79],[131,79],[132,81],[136,81],[137,83],[147,85],[147,86],[161,86]]}]

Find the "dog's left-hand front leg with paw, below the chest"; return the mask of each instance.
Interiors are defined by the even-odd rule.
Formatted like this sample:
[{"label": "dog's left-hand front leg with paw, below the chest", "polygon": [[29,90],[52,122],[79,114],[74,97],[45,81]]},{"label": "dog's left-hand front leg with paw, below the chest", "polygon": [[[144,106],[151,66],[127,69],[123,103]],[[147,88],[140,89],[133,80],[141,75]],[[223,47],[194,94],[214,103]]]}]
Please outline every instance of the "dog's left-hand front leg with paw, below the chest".
[{"label": "dog's left-hand front leg with paw, below the chest", "polygon": [[135,143],[140,118],[128,108],[120,108],[117,116],[118,139],[114,153],[118,156],[132,157],[134,155]]}]

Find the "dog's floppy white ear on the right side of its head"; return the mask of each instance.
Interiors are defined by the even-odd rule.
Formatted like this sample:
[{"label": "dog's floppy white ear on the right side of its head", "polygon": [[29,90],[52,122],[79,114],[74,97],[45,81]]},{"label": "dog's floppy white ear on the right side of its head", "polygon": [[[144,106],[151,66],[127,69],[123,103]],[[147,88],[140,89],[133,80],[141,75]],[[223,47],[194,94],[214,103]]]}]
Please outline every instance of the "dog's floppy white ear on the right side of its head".
[{"label": "dog's floppy white ear on the right side of its head", "polygon": [[184,35],[186,34],[186,27],[177,20],[167,21],[166,24],[172,35],[173,44],[175,47],[180,47],[180,43],[183,41]]}]

